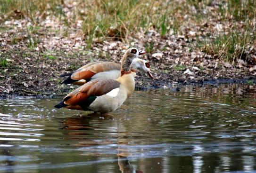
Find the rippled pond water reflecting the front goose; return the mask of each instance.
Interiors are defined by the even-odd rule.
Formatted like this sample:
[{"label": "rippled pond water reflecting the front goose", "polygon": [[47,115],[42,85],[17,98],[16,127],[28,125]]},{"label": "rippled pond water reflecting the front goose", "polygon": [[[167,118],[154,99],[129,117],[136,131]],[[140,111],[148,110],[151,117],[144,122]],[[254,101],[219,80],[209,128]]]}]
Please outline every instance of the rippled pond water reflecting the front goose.
[{"label": "rippled pond water reflecting the front goose", "polygon": [[0,172],[254,172],[255,98],[255,86],[137,91],[109,116],[0,100]]}]

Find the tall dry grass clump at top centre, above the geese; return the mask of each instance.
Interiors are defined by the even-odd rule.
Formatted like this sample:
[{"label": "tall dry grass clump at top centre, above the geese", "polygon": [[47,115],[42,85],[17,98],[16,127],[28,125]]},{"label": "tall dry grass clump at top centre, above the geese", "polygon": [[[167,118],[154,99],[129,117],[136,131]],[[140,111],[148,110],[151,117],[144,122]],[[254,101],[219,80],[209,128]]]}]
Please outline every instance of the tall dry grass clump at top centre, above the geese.
[{"label": "tall dry grass clump at top centre, above the geese", "polygon": [[83,22],[83,33],[89,39],[112,37],[129,42],[134,31],[148,31],[150,27],[165,35],[170,25],[167,16],[172,15],[170,3],[164,0],[88,0],[84,4],[90,9]]}]

